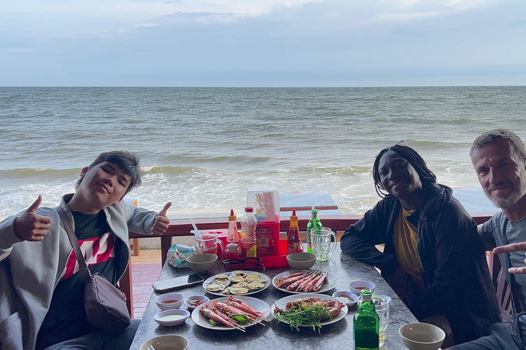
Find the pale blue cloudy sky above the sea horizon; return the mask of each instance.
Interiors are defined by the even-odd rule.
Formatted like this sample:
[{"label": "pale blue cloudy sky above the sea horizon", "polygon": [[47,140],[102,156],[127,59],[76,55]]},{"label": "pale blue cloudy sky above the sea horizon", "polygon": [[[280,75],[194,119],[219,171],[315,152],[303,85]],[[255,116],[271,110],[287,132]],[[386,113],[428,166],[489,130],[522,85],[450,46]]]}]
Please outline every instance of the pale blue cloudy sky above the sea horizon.
[{"label": "pale blue cloudy sky above the sea horizon", "polygon": [[524,0],[0,0],[0,86],[526,85]]}]

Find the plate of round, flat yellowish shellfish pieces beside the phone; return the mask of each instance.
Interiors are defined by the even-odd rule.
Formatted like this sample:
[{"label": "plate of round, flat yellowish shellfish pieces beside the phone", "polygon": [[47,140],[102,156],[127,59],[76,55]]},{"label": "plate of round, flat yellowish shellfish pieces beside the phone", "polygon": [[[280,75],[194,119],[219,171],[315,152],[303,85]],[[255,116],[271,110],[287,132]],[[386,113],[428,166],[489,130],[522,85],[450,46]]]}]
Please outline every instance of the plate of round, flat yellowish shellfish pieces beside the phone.
[{"label": "plate of round, flat yellowish shellfish pieces beside the phone", "polygon": [[268,288],[271,278],[264,273],[253,271],[231,271],[214,275],[205,282],[203,288],[210,294],[251,295]]}]

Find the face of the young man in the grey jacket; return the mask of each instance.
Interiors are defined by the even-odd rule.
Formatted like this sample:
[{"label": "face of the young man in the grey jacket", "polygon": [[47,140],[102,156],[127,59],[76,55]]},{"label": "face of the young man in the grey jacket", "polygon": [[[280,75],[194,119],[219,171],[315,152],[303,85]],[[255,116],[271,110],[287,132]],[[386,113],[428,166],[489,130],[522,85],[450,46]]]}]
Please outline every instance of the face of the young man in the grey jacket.
[{"label": "face of the young man in the grey jacket", "polygon": [[84,198],[95,201],[100,208],[107,208],[120,202],[129,187],[130,178],[117,165],[103,162],[91,168],[85,167],[81,174],[84,178],[77,192]]}]

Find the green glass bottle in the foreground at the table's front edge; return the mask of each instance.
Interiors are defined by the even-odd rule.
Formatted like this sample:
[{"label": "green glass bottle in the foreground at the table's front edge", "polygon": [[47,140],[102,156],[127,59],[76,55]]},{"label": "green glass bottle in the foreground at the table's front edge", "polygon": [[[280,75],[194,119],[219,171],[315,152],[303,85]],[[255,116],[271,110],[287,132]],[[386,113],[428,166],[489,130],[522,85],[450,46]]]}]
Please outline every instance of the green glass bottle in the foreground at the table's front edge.
[{"label": "green glass bottle in the foreground at the table's front edge", "polygon": [[354,350],[378,350],[380,341],[380,320],[371,298],[371,289],[362,291],[361,302],[353,319]]}]

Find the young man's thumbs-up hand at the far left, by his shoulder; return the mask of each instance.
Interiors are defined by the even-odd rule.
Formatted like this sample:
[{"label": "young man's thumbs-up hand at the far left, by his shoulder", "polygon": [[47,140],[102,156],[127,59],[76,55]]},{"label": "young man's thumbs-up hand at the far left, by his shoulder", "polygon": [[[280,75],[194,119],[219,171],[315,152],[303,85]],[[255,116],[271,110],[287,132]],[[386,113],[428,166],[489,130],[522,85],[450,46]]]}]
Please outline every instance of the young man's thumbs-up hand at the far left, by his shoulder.
[{"label": "young man's thumbs-up hand at the far left, by his shoulder", "polygon": [[42,203],[42,196],[38,195],[36,201],[27,208],[22,215],[16,217],[13,222],[14,234],[24,241],[42,241],[51,228],[51,217],[40,216],[36,209]]}]

